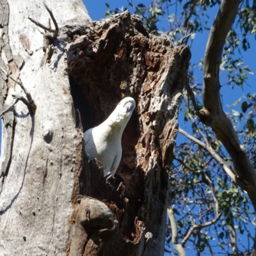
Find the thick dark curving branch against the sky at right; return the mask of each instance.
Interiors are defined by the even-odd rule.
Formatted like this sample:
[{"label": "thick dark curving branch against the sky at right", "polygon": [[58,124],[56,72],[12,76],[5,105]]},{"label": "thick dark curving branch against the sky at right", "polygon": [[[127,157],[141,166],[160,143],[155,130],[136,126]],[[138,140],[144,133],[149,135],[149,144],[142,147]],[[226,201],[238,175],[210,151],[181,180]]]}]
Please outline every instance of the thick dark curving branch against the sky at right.
[{"label": "thick dark curving branch against the sky at right", "polygon": [[234,163],[234,170],[238,176],[237,181],[247,191],[253,207],[256,209],[256,172],[250,164],[250,159],[241,145],[232,123],[225,115],[220,100],[221,54],[227,33],[236,17],[239,3],[239,0],[223,0],[214,19],[204,56],[204,108],[200,110],[200,120],[212,128],[227,149]]}]

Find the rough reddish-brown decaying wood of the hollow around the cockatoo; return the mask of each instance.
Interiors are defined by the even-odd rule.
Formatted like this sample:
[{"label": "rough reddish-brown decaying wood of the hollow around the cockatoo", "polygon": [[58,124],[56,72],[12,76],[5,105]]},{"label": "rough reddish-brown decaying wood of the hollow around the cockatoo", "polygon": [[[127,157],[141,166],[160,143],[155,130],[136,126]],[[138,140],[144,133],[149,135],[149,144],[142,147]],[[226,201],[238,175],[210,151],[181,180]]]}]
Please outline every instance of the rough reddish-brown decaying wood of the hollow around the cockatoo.
[{"label": "rough reddish-brown decaying wood of the hollow around the cockatoo", "polygon": [[[85,179],[93,188],[88,195],[106,202],[115,214],[119,228],[113,236],[116,244],[123,244],[113,250],[112,239],[95,234],[101,241],[97,255],[161,255],[170,200],[167,171],[179,100],[187,83],[189,49],[148,34],[129,12],[93,22],[66,49],[68,74],[74,79],[71,90],[84,130],[100,124],[122,97],[131,96],[137,104],[123,134],[123,157],[114,182],[106,184],[97,166],[91,167],[93,177],[88,173]],[[80,102],[77,94],[83,95]],[[147,232],[152,238],[146,244]],[[85,252],[97,247],[95,237],[81,243]]]}]

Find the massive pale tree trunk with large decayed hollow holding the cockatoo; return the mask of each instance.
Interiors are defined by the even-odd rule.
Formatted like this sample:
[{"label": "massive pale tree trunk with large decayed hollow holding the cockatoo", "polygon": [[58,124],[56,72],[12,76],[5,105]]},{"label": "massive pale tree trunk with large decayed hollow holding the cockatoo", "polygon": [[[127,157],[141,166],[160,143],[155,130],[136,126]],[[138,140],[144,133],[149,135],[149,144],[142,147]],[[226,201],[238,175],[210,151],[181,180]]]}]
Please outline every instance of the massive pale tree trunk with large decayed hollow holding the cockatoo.
[{"label": "massive pale tree trunk with large decayed hollow holding the cockatoo", "polygon": [[[91,22],[80,0],[46,1],[55,32],[28,19],[48,27],[41,1],[0,4],[0,255],[163,255],[188,47],[129,12]],[[137,106],[106,181],[83,131],[125,96]]]}]

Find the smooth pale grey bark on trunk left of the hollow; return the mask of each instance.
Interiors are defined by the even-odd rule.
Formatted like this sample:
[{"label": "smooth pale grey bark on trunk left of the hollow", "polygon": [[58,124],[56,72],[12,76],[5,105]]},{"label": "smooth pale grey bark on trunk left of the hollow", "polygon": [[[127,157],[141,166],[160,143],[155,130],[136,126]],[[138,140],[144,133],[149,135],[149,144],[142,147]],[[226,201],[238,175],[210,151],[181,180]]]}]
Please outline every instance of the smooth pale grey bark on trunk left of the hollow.
[{"label": "smooth pale grey bark on trunk left of the hollow", "polygon": [[[86,24],[83,1],[46,1],[58,25]],[[0,169],[0,255],[65,255],[77,151],[76,127],[67,76],[65,44],[55,40],[45,61],[43,35],[28,17],[48,26],[42,1],[0,1],[1,68],[31,94],[35,115],[19,100],[3,115]],[[44,33],[44,31],[42,31]],[[26,93],[1,72],[1,111]],[[13,98],[13,95],[16,97]],[[28,99],[27,99],[28,100]]]}]

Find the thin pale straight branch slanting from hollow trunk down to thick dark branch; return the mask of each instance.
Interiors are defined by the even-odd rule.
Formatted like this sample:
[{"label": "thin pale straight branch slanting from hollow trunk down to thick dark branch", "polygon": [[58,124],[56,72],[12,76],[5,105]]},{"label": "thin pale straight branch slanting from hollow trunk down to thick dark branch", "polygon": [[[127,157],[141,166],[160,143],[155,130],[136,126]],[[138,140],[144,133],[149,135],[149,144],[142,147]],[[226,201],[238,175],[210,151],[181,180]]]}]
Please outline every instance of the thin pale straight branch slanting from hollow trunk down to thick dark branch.
[{"label": "thin pale straight branch slanting from hollow trunk down to thick dark branch", "polygon": [[234,175],[232,170],[228,167],[228,164],[212,149],[211,146],[205,145],[205,143],[203,143],[200,140],[197,140],[195,137],[189,135],[188,132],[183,131],[181,128],[179,128],[179,132],[181,134],[183,134],[184,136],[186,136],[189,140],[194,141],[195,143],[197,143],[201,147],[205,148],[211,154],[211,156],[214,157],[214,159],[219,164],[221,164],[223,166],[223,169],[225,170],[227,175],[230,177],[230,179],[232,179],[233,182],[236,182],[236,176]]}]

